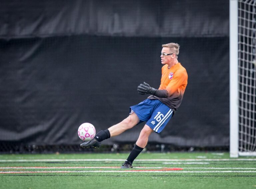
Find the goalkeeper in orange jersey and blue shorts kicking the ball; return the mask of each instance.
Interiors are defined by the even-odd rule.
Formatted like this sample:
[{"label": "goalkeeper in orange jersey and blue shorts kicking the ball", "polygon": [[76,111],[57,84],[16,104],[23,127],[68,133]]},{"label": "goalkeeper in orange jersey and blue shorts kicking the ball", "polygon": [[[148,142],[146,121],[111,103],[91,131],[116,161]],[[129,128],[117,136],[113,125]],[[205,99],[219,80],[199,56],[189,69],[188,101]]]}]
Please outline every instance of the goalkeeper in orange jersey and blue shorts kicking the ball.
[{"label": "goalkeeper in orange jersey and blue shorts kicking the ball", "polygon": [[138,86],[138,93],[141,95],[151,94],[146,100],[130,107],[130,114],[120,123],[101,130],[95,137],[80,146],[84,148],[100,147],[101,141],[117,136],[135,125],[146,122],[140,132],[139,138],[121,168],[132,168],[134,159],[146,147],[148,137],[152,132],[160,133],[177,108],[180,106],[188,81],[186,69],[178,62],[180,45],[168,43],[162,45],[161,63],[162,67],[161,84],[158,89],[150,87],[147,83]]}]

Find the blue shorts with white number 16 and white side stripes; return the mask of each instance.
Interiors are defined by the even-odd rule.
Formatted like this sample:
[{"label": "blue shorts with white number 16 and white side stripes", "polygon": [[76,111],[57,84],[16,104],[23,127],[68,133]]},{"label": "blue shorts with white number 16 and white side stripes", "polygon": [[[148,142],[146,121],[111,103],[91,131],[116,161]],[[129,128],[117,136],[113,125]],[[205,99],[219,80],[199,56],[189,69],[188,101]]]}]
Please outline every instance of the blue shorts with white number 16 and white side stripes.
[{"label": "blue shorts with white number 16 and white side stripes", "polygon": [[146,125],[157,133],[164,129],[173,116],[172,109],[156,99],[146,99],[135,106],[131,106],[130,114],[133,112],[139,117],[139,123],[146,121]]}]

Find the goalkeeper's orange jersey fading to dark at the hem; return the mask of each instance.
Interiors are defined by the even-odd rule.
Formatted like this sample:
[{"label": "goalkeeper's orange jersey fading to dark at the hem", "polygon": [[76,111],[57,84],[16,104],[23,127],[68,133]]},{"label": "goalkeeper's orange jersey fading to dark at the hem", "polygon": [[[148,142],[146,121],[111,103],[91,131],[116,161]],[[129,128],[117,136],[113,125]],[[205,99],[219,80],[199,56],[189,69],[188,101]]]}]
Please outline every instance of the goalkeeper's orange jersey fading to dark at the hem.
[{"label": "goalkeeper's orange jersey fading to dark at the hem", "polygon": [[165,64],[162,67],[162,77],[159,90],[165,89],[168,92],[167,98],[160,98],[154,95],[149,96],[149,99],[158,99],[174,112],[180,106],[183,95],[188,84],[188,74],[186,69],[180,64],[175,64],[170,69]]}]

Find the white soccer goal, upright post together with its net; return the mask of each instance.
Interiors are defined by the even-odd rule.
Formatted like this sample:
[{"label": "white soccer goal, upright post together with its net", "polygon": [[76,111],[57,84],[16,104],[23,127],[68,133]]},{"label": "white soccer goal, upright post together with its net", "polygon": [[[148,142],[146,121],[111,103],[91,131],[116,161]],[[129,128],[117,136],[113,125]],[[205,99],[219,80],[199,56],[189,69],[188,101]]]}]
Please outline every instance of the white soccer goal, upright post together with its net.
[{"label": "white soccer goal, upright post together with its net", "polygon": [[256,156],[256,0],[229,2],[230,157]]}]

